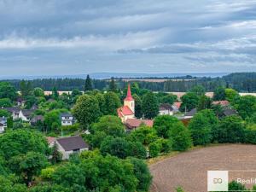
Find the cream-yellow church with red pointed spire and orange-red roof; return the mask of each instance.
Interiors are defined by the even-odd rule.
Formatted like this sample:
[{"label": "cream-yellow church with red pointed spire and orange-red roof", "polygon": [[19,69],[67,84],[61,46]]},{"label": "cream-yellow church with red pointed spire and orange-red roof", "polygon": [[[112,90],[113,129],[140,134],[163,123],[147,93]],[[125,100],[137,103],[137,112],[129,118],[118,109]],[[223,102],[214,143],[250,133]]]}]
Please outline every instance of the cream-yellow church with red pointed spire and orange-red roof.
[{"label": "cream-yellow church with red pointed spire and orange-red roof", "polygon": [[127,95],[124,100],[124,106],[118,108],[117,113],[123,123],[125,123],[127,119],[135,119],[135,102],[131,96],[130,84],[128,84]]}]

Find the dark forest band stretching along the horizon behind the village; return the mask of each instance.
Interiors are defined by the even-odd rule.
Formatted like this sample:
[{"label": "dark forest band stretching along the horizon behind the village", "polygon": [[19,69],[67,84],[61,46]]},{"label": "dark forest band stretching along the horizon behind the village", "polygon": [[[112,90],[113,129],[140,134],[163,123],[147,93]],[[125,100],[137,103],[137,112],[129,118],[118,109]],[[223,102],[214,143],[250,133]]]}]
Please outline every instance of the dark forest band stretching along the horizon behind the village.
[{"label": "dark forest band stretching along the horizon behind the village", "polygon": [[[256,73],[230,73],[222,78],[198,78],[189,77],[177,77],[181,79],[179,81],[173,81],[173,79],[166,80],[165,82],[147,82],[137,81],[137,84],[141,89],[148,89],[153,91],[166,91],[166,92],[186,92],[196,85],[201,85],[206,91],[213,91],[219,86],[226,88],[232,88],[239,92],[255,92],[256,91]],[[89,75],[87,79],[33,79],[28,80],[32,88],[40,87],[43,90],[87,90],[86,84],[88,81],[92,84],[92,89],[108,90],[109,81],[115,81],[117,88],[124,90],[127,82],[123,79],[90,79]],[[22,80],[3,80],[7,81],[15,86],[16,90],[20,90],[20,83]],[[136,80],[134,80],[136,82]],[[131,82],[134,82],[131,79]],[[86,83],[87,82],[87,83]]]}]

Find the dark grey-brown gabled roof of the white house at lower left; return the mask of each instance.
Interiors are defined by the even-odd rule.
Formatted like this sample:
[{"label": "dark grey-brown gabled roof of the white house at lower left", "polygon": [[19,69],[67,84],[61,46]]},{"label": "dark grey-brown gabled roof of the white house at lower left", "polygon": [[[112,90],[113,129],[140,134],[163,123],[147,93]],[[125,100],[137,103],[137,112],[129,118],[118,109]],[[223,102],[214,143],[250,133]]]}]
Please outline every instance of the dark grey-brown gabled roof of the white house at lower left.
[{"label": "dark grey-brown gabled roof of the white house at lower left", "polygon": [[80,148],[89,148],[89,145],[84,142],[80,136],[64,137],[56,140],[65,151],[71,151]]}]

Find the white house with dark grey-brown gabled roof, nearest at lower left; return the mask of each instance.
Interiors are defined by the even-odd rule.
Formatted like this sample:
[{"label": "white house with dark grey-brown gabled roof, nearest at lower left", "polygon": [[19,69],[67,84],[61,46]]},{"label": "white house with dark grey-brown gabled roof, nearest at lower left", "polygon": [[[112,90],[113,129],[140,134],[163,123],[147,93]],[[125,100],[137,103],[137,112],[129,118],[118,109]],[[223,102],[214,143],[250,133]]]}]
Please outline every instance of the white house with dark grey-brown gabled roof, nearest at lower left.
[{"label": "white house with dark grey-brown gabled roof, nearest at lower left", "polygon": [[58,138],[55,142],[62,154],[62,160],[69,159],[70,154],[89,150],[89,145],[80,136]]}]

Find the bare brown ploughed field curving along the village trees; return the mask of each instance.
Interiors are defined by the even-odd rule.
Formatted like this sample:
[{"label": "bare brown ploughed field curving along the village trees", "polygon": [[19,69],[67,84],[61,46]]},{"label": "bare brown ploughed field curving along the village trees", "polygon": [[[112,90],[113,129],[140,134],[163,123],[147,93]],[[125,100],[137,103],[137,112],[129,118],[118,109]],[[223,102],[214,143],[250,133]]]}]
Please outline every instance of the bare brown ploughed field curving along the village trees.
[{"label": "bare brown ploughed field curving along the village trees", "polygon": [[214,170],[229,171],[230,181],[256,177],[256,145],[199,148],[161,160],[150,166],[151,191],[172,192],[182,186],[185,192],[206,192],[207,171]]}]

